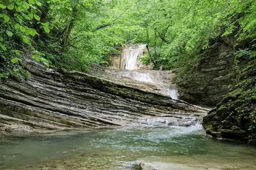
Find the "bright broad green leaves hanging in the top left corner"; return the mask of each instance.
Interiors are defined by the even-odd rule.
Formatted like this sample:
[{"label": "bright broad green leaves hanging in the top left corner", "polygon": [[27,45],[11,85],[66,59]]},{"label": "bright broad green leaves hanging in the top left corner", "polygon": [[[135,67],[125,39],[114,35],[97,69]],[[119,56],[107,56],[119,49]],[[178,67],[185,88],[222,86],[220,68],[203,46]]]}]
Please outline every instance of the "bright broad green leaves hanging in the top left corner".
[{"label": "bright broad green leaves hanging in the top left corner", "polygon": [[[19,35],[20,39],[26,43],[31,44],[31,37],[38,35],[34,27],[33,21],[40,21],[40,10],[38,6],[42,6],[39,0],[10,0],[8,3],[6,1],[1,1],[0,8],[0,18],[3,18],[4,22],[8,22],[8,27],[10,29],[3,30],[0,32],[0,37],[3,32],[12,38],[13,34]],[[8,44],[6,41],[1,43],[1,50],[6,51]],[[12,49],[12,48],[11,48]],[[16,58],[13,58],[13,63],[17,62]]]}]

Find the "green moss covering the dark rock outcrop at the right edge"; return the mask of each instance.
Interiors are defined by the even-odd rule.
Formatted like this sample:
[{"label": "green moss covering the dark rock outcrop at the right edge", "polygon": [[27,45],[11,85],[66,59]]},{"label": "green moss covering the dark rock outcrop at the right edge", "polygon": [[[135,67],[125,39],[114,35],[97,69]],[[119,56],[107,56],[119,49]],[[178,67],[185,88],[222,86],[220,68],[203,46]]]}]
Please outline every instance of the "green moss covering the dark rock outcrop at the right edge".
[{"label": "green moss covering the dark rock outcrop at the right edge", "polygon": [[[204,118],[204,124],[218,125],[218,129],[239,127],[252,134],[256,131],[256,75],[252,75],[256,66],[248,66],[243,71],[243,78],[235,87],[228,91],[221,103],[210,115]],[[247,76],[246,76],[247,75]],[[252,136],[252,135],[251,135]]]}]

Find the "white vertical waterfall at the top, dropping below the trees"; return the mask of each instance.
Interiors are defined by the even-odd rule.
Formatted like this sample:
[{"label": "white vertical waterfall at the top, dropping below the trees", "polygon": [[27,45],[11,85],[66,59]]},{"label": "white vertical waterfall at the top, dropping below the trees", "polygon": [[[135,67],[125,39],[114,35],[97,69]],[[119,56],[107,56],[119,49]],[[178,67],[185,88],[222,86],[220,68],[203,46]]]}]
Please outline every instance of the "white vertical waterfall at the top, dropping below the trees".
[{"label": "white vertical waterfall at the top, dropping below the trees", "polygon": [[125,69],[140,68],[141,62],[138,59],[143,57],[144,49],[145,45],[130,45],[124,48],[122,57],[125,60]]}]

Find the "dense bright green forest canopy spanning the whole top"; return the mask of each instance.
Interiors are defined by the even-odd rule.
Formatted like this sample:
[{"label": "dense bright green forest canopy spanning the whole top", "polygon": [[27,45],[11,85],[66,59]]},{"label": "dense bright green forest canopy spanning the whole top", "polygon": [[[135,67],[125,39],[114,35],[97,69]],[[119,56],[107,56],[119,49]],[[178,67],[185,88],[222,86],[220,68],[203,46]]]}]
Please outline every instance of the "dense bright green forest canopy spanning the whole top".
[{"label": "dense bright green forest canopy spanning the whole top", "polygon": [[[22,60],[86,71],[115,45],[147,45],[156,68],[196,66],[212,39],[236,37],[255,58],[255,0],[1,0],[0,76],[27,78]],[[243,45],[241,45],[243,44]]]}]

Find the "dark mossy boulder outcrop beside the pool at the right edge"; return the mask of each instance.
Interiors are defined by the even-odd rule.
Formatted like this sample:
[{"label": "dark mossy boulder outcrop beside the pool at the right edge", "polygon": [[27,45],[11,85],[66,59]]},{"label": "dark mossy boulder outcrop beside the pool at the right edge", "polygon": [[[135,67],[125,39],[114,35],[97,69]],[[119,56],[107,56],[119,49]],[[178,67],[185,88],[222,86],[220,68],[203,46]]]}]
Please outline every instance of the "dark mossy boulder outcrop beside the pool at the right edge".
[{"label": "dark mossy boulder outcrop beside the pool at the right edge", "polygon": [[256,64],[241,73],[241,82],[203,120],[214,138],[256,141]]}]

